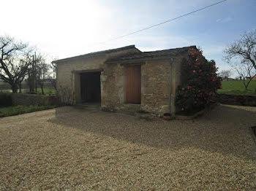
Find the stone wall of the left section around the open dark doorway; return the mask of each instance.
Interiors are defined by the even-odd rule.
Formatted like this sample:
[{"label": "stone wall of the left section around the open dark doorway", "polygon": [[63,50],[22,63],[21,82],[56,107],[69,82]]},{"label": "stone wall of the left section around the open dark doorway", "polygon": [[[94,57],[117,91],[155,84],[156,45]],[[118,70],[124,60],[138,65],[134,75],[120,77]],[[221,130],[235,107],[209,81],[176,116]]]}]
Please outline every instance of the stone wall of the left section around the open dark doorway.
[{"label": "stone wall of the left section around the open dark doorway", "polygon": [[[129,50],[120,50],[118,52],[110,52],[108,54],[100,54],[88,58],[74,59],[57,63],[57,91],[61,101],[67,104],[77,104],[80,101],[80,73],[86,71],[105,71],[108,66],[104,62],[111,57],[124,55],[130,52],[138,52],[139,50],[131,48]],[[107,67],[107,68],[106,68]],[[111,74],[111,75],[114,75]],[[110,76],[108,76],[110,77]],[[102,81],[106,78],[102,74]],[[110,77],[111,78],[111,77]],[[104,87],[101,85],[101,87]],[[104,94],[104,93],[103,93]]]}]

